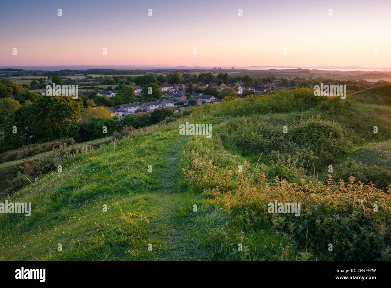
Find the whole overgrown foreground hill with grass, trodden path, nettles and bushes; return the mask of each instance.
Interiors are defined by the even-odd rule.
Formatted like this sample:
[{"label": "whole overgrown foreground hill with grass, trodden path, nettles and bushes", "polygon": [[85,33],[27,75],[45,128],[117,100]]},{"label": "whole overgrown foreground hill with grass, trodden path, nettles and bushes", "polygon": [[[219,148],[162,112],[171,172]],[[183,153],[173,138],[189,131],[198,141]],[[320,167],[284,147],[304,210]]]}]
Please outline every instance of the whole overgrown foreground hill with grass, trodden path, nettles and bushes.
[{"label": "whole overgrown foreground hill with grass, trodden path, nettles and bushes", "polygon": [[[391,108],[340,101],[300,89],[206,105],[76,155],[7,198],[32,214],[0,214],[2,260],[390,259],[387,189],[328,167],[389,177]],[[179,135],[187,121],[213,137]],[[267,212],[282,199],[301,216]]]}]

